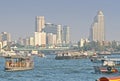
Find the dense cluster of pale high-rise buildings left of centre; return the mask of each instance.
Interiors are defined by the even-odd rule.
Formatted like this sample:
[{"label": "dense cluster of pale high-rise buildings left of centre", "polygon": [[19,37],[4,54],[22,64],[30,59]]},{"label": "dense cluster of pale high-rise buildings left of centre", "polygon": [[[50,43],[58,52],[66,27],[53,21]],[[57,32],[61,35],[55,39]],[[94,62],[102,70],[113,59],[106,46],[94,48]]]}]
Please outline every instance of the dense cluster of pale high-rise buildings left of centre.
[{"label": "dense cluster of pale high-rise buildings left of centre", "polygon": [[[46,23],[44,16],[35,18],[34,45],[62,46],[70,44],[70,31],[68,26]],[[56,32],[56,34],[55,34]]]}]

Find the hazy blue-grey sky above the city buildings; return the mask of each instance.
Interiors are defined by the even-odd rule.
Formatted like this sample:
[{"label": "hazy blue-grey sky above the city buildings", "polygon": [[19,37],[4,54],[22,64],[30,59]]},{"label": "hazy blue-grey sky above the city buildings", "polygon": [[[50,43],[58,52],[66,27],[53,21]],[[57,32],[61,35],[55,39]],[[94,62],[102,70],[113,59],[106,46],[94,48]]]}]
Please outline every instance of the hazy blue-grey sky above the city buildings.
[{"label": "hazy blue-grey sky above the city buildings", "polygon": [[46,23],[70,26],[71,40],[89,36],[89,29],[99,10],[105,16],[107,40],[120,40],[120,0],[0,0],[0,32],[12,38],[34,34],[35,17]]}]

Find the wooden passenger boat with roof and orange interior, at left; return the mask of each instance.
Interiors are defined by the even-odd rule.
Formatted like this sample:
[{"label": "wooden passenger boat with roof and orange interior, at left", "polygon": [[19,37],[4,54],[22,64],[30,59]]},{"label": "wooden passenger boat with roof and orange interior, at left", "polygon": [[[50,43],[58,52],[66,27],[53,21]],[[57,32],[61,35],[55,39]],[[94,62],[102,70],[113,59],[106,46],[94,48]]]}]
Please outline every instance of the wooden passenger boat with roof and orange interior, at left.
[{"label": "wooden passenger boat with roof and orange interior, at left", "polygon": [[31,70],[34,62],[31,56],[12,55],[5,57],[5,71]]}]

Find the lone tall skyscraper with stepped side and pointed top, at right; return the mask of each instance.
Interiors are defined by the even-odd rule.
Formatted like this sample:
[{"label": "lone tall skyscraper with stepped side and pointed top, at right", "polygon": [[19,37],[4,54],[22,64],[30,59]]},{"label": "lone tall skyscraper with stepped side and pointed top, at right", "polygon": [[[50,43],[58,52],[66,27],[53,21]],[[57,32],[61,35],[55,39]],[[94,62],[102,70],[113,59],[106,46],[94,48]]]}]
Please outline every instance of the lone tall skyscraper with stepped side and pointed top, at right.
[{"label": "lone tall skyscraper with stepped side and pointed top, at right", "polygon": [[105,41],[104,15],[102,11],[98,11],[97,16],[94,18],[90,34],[91,41]]}]

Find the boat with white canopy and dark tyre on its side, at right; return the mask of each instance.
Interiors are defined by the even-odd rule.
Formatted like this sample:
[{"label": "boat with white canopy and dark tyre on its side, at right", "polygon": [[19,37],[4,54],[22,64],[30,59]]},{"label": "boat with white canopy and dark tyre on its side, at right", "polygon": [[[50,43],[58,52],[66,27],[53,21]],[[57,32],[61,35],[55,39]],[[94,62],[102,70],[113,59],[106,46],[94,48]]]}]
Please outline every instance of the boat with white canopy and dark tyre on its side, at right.
[{"label": "boat with white canopy and dark tyre on its side, at right", "polygon": [[109,58],[101,66],[94,66],[95,73],[117,73],[120,72],[120,59]]}]

